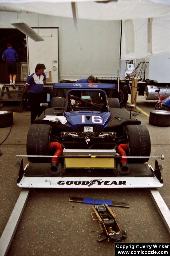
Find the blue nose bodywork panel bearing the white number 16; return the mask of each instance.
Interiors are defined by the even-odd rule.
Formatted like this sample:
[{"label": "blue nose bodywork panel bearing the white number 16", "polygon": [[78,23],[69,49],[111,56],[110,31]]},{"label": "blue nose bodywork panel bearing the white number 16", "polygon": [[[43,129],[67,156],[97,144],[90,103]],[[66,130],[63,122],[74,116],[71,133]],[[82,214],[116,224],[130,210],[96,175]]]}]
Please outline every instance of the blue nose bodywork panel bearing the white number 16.
[{"label": "blue nose bodywork panel bearing the white number 16", "polygon": [[67,118],[68,125],[72,130],[81,126],[97,126],[104,130],[110,120],[111,113],[100,111],[64,111],[64,116]]}]

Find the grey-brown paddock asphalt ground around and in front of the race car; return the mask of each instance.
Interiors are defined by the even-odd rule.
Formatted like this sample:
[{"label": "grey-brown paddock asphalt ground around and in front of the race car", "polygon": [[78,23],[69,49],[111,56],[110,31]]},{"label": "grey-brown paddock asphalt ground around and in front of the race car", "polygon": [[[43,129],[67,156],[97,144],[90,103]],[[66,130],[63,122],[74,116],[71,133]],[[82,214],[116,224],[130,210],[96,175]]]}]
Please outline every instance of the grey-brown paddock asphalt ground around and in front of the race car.
[{"label": "grey-brown paddock asphalt ground around and in front of the race car", "polygon": [[[163,166],[164,185],[159,192],[170,209],[169,166],[170,127],[149,124],[155,101],[137,96],[142,109],[137,119],[148,127],[151,136],[151,155],[165,155],[159,159]],[[13,113],[14,125],[10,135],[0,146],[1,208],[0,236],[14,208],[21,188],[16,185],[18,169],[16,155],[26,155],[26,138],[30,126],[30,112]],[[10,127],[0,128],[0,143]],[[154,167],[154,159],[149,164]],[[24,158],[24,165],[27,159]],[[124,242],[169,242],[170,236],[148,189],[31,189],[13,242],[7,256],[106,256],[115,255],[113,242],[97,242],[101,233],[98,222],[91,218],[88,204],[69,202],[69,197],[88,197],[128,202],[130,208],[114,207],[120,227],[127,231]]]}]

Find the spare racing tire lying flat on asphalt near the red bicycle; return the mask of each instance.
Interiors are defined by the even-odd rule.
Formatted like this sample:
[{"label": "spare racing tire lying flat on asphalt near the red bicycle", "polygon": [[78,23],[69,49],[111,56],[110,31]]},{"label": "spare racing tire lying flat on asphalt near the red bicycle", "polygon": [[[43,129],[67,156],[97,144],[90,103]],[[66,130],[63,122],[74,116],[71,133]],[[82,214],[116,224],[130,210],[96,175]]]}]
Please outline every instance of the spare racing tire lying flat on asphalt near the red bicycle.
[{"label": "spare racing tire lying flat on asphalt near the red bicycle", "polygon": [[149,123],[154,126],[170,126],[170,111],[152,110],[149,114]]}]

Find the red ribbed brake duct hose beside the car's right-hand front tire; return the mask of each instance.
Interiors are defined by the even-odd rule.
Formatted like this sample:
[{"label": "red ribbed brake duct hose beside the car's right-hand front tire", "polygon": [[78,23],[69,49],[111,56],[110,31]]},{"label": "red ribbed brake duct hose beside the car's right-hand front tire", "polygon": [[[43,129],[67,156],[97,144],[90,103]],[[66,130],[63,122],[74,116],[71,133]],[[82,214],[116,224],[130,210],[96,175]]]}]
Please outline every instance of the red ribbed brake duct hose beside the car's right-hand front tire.
[{"label": "red ribbed brake duct hose beside the car's right-hand front tire", "polygon": [[[125,151],[127,151],[128,148],[129,148],[128,143],[118,145],[118,147],[117,147],[118,154],[120,156],[127,156]],[[129,173],[127,158],[121,158],[120,165],[121,165],[121,171],[123,173]]]}]

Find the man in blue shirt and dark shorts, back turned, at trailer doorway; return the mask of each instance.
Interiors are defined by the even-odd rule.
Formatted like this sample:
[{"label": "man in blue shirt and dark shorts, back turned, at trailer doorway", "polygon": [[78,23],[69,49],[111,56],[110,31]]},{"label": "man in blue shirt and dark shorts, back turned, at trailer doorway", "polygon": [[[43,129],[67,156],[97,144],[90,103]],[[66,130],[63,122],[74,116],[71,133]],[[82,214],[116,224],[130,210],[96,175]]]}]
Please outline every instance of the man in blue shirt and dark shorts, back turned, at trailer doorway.
[{"label": "man in blue shirt and dark shorts, back turned, at trailer doorway", "polygon": [[[10,77],[10,85],[12,85],[13,89],[15,87],[15,80],[16,80],[16,60],[18,59],[17,52],[12,49],[12,44],[7,44],[7,49],[4,51],[2,55],[3,61],[7,62],[7,70]],[[13,82],[12,82],[13,78]]]}]

